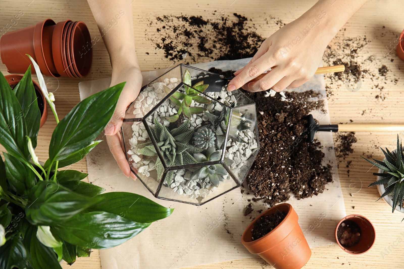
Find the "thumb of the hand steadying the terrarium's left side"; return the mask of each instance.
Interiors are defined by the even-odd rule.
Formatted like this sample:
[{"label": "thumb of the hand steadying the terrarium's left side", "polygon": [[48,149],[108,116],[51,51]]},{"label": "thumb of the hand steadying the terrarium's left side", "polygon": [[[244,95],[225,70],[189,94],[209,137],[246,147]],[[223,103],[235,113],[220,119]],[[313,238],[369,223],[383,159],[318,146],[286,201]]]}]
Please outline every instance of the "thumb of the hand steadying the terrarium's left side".
[{"label": "thumb of the hand steadying the terrarium's left side", "polygon": [[116,133],[118,133],[125,118],[126,109],[130,105],[130,103],[135,100],[134,92],[135,89],[133,89],[131,86],[125,86],[124,90],[119,96],[114,114],[109,120],[107,127],[105,127],[104,129],[104,133],[106,136],[114,136]]}]

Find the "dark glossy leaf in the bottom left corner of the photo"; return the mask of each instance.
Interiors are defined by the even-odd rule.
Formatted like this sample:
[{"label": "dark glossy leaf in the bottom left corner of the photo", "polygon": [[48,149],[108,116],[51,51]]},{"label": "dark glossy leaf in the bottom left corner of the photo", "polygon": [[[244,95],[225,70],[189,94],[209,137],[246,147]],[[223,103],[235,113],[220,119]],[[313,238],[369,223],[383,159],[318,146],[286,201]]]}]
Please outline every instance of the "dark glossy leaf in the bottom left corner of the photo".
[{"label": "dark glossy leaf in the bottom left corner of the photo", "polygon": [[17,237],[7,240],[6,244],[0,247],[0,268],[24,268],[26,260],[27,252]]}]

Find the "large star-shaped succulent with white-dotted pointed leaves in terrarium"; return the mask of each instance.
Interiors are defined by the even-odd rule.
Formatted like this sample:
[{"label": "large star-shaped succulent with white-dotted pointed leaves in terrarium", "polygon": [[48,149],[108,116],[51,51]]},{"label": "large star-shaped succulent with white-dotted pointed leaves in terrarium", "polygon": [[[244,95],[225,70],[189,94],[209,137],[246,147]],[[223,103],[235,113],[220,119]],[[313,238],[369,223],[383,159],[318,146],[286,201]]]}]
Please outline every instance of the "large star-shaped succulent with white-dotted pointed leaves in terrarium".
[{"label": "large star-shaped succulent with white-dotted pointed leaves in terrarium", "polygon": [[[164,161],[168,166],[177,166],[184,164],[197,163],[196,159],[191,155],[201,152],[201,148],[189,145],[194,131],[189,130],[189,120],[181,124],[177,129],[168,131],[166,126],[154,119],[154,129],[151,129],[154,139],[157,142],[157,146],[164,158]],[[157,151],[152,142],[146,142],[137,145],[137,154],[143,154],[145,156],[156,156]],[[164,172],[163,164],[160,158],[156,161],[157,178],[160,179]],[[174,171],[169,171],[166,176],[167,184],[171,183]]]}]

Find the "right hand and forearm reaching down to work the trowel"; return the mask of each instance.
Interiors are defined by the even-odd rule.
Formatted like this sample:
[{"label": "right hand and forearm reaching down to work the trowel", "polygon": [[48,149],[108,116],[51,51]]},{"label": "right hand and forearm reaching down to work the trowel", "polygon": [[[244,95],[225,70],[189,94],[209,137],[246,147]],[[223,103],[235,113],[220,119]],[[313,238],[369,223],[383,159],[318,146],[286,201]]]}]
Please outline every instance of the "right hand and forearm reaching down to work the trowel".
[{"label": "right hand and forearm reaching down to work the trowel", "polygon": [[[302,85],[316,72],[330,40],[366,1],[319,0],[267,38],[250,63],[234,73],[227,89],[280,92]],[[255,79],[269,69],[261,79]]]}]

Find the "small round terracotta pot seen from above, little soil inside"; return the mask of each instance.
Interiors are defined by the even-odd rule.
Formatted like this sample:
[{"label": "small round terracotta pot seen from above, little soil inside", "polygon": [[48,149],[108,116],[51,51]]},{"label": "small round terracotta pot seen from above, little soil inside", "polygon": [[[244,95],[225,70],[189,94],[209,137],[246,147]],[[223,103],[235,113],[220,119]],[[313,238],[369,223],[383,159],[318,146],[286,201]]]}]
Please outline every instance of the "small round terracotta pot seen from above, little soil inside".
[{"label": "small round terracotta pot seen from above, little soil inside", "polygon": [[[361,236],[358,244],[355,246],[347,247],[345,248],[344,246],[341,245],[341,243],[338,241],[337,238],[337,231],[339,225],[345,220],[349,219],[350,221],[354,221],[356,224],[359,225],[360,230],[361,230]],[[373,244],[375,244],[376,240],[376,230],[375,226],[370,222],[370,220],[362,215],[348,215],[345,218],[341,219],[339,221],[337,228],[335,229],[335,239],[337,240],[338,245],[345,251],[348,252],[349,254],[363,254],[370,250],[372,248]]]}]

